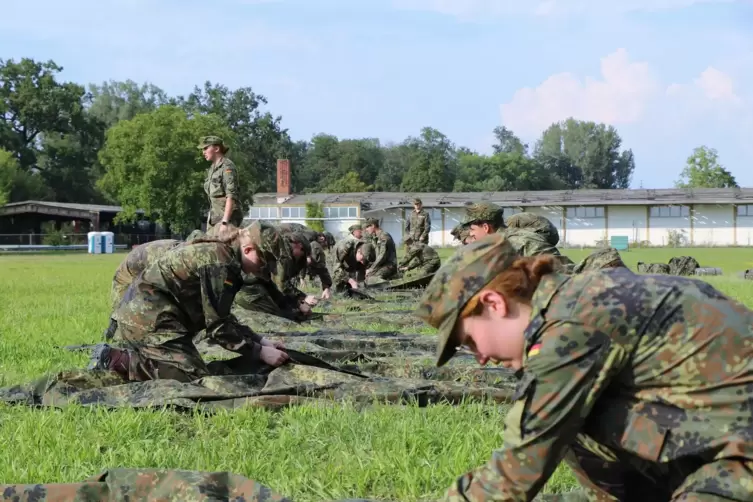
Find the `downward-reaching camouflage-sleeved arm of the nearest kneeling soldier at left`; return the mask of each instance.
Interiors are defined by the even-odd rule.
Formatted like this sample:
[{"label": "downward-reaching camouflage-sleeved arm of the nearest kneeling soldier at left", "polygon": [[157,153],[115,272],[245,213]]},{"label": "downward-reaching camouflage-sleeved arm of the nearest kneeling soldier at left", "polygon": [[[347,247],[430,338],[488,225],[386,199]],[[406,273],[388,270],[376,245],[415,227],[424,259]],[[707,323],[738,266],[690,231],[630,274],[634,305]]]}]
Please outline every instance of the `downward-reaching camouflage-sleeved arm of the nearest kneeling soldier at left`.
[{"label": "downward-reaching camouflage-sleeved arm of the nearest kneeling soldier at left", "polygon": [[231,352],[259,359],[261,345],[248,336],[230,309],[243,286],[240,270],[228,265],[210,265],[199,270],[201,303],[207,337]]}]

